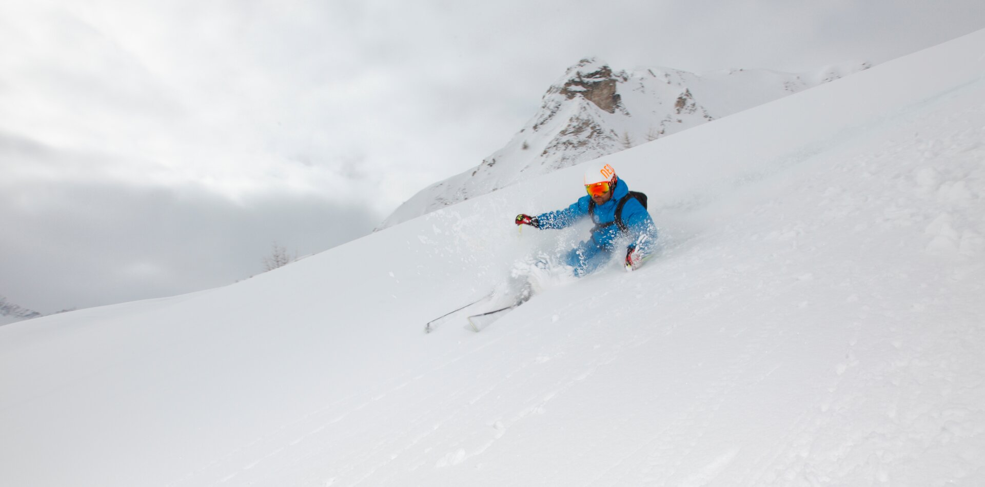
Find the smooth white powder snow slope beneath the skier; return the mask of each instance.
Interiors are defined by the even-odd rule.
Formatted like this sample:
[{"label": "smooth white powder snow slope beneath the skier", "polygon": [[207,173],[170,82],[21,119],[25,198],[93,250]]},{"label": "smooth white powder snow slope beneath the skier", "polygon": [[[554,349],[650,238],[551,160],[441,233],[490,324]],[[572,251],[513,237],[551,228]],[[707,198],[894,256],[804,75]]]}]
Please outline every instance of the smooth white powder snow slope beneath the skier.
[{"label": "smooth white powder snow slope beneath the skier", "polygon": [[[985,30],[608,157],[667,244],[475,334],[580,171],[0,328],[0,485],[985,485]],[[851,116],[846,116],[851,114]]]}]

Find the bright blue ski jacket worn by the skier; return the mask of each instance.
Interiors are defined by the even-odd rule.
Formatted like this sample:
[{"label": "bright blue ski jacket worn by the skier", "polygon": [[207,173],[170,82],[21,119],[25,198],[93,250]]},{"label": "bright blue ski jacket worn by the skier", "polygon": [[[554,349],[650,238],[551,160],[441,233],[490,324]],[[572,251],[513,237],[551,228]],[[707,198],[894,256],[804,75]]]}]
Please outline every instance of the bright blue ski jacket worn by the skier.
[{"label": "bright blue ski jacket worn by the skier", "polygon": [[[629,186],[623,179],[618,179],[613,190],[613,197],[602,205],[594,205],[590,196],[585,195],[578,199],[571,206],[556,212],[541,213],[537,215],[540,228],[564,228],[570,226],[584,217],[589,216],[589,206],[595,207],[591,212],[592,221],[595,226],[592,228],[592,238],[583,242],[582,253],[589,252],[596,254],[599,251],[612,253],[616,250],[616,244],[620,241],[627,242],[626,249],[635,249],[645,256],[651,252],[657,241],[657,227],[653,224],[650,213],[647,213],[643,205],[635,198],[629,197],[623,207],[623,222],[626,226],[625,234],[620,229],[616,220],[616,208],[620,200],[629,194]],[[608,224],[607,223],[612,223]],[[627,237],[622,239],[622,237]],[[584,258],[591,256],[585,255]]]}]

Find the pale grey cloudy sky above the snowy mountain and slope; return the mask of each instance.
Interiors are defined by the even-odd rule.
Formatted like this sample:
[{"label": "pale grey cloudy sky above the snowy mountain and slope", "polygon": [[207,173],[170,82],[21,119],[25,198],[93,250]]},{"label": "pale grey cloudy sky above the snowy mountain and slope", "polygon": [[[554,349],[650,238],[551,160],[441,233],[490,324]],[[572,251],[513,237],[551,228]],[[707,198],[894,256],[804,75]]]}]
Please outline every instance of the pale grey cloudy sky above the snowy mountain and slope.
[{"label": "pale grey cloudy sky above the snowy mountain and slope", "polygon": [[360,237],[583,57],[813,71],[983,28],[980,0],[0,0],[0,296],[171,295]]}]

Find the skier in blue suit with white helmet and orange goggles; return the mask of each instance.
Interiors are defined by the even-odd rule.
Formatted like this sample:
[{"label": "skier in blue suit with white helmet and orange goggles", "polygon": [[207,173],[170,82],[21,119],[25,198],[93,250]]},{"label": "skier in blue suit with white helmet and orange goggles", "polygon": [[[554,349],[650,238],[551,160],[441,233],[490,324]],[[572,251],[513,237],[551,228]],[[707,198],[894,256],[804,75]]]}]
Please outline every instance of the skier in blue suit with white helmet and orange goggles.
[{"label": "skier in blue suit with white helmet and orange goggles", "polygon": [[657,227],[646,211],[646,196],[630,194],[625,181],[605,162],[590,163],[584,182],[588,194],[571,206],[536,216],[520,213],[516,215],[516,224],[564,228],[590,217],[595,223],[591,238],[571,249],[565,258],[574,275],[580,277],[596,271],[621,249],[625,250],[625,270],[638,268],[653,252],[657,240]]}]

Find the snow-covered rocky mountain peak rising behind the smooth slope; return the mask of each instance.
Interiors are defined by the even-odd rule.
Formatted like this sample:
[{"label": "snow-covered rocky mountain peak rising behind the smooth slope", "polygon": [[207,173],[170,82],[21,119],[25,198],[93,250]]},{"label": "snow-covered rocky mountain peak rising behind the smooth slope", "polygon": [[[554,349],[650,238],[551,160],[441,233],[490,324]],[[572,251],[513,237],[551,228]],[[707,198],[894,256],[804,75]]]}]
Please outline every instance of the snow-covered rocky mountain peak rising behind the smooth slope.
[{"label": "snow-covered rocky mountain peak rising behind the smooth slope", "polygon": [[505,147],[478,166],[432,184],[381,228],[540,174],[696,127],[869,68],[850,62],[817,73],[733,69],[695,74],[668,68],[613,71],[583,59],[544,95],[541,108]]}]

